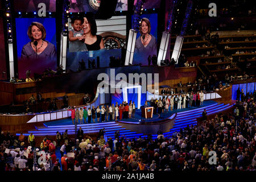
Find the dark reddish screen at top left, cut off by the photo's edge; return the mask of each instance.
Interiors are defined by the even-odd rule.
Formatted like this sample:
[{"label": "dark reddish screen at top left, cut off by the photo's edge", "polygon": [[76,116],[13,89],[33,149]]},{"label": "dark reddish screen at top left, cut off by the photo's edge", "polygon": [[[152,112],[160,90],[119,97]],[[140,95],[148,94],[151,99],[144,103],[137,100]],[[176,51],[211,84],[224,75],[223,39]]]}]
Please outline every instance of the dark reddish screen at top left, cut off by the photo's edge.
[{"label": "dark reddish screen at top left, cut off by the photo's edge", "polygon": [[42,8],[46,8],[47,12],[56,11],[56,0],[13,0],[14,11],[18,12],[38,12]]}]

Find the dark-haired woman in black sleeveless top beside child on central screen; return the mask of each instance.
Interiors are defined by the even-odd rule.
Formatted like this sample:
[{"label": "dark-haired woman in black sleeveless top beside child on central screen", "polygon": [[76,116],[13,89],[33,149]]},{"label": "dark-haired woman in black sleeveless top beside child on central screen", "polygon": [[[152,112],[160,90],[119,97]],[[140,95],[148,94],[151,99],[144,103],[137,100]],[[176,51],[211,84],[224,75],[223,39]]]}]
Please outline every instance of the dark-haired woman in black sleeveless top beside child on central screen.
[{"label": "dark-haired woman in black sleeveless top beside child on central screen", "polygon": [[85,16],[82,30],[84,31],[84,43],[88,51],[96,51],[105,48],[102,36],[96,35],[97,25],[95,19],[90,16]]}]

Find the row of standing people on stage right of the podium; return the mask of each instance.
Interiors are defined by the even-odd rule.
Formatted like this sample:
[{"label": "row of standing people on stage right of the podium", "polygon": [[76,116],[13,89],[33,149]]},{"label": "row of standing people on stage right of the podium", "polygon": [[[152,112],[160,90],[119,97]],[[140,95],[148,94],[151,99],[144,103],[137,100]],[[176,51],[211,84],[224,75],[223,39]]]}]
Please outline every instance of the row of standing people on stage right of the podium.
[{"label": "row of standing people on stage right of the podium", "polygon": [[203,105],[204,93],[203,91],[194,93],[185,93],[175,96],[163,96],[158,100],[151,98],[150,105],[154,107],[154,114],[168,113],[169,107],[171,111],[176,109],[185,109],[189,107],[195,107]]}]

